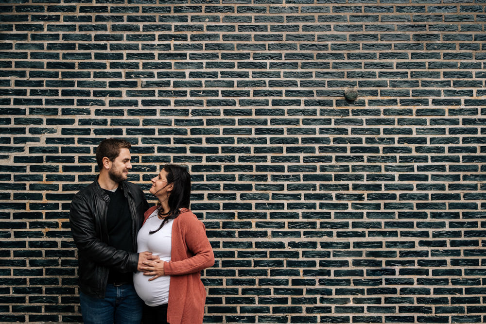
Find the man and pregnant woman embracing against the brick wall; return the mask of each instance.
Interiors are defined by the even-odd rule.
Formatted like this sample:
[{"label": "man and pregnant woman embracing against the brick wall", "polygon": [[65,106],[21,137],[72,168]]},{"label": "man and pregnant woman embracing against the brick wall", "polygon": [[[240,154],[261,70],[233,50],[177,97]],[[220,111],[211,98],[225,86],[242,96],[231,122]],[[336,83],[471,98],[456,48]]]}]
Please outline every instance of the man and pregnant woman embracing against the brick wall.
[{"label": "man and pregnant woman embracing against the brick wall", "polygon": [[206,290],[201,270],[214,264],[204,224],[189,209],[191,176],[162,167],[149,208],[127,180],[130,143],[107,138],[96,149],[100,173],[72,199],[69,222],[78,248],[84,323],[197,324]]}]

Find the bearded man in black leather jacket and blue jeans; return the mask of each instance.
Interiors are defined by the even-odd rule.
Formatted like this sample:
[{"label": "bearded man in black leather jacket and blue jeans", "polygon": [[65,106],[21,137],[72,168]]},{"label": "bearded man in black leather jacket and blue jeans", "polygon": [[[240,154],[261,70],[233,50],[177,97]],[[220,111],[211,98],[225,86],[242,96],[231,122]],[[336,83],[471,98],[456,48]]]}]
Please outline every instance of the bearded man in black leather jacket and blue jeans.
[{"label": "bearded man in black leather jacket and blue jeans", "polygon": [[84,323],[140,323],[142,301],[133,273],[156,258],[137,254],[137,233],[148,209],[139,186],[126,181],[130,143],[104,139],[96,149],[97,179],[72,199],[69,221],[78,248]]}]

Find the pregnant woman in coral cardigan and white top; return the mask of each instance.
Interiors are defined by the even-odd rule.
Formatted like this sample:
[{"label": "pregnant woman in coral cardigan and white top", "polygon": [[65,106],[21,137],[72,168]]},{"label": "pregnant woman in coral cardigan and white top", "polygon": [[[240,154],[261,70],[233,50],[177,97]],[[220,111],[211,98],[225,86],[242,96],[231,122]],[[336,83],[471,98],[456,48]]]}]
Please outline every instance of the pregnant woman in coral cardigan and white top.
[{"label": "pregnant woman in coral cardigan and white top", "polygon": [[204,224],[189,209],[191,175],[168,164],[151,181],[150,193],[159,201],[145,212],[137,243],[139,252],[160,259],[143,262],[144,272],[133,277],[145,302],[143,323],[203,323],[206,290],[200,271],[214,264],[214,254]]}]

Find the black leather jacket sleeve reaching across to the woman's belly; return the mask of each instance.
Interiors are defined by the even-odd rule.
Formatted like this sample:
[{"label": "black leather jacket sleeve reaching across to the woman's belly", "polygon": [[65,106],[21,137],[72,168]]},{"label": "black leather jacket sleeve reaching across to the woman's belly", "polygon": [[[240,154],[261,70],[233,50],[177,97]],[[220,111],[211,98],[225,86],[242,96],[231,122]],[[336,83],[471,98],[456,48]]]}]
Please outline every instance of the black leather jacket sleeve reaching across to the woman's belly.
[{"label": "black leather jacket sleeve reaching across to the woman's belly", "polygon": [[69,223],[74,243],[84,258],[120,272],[137,271],[137,253],[117,250],[97,237],[94,215],[85,197],[74,196],[69,210]]}]

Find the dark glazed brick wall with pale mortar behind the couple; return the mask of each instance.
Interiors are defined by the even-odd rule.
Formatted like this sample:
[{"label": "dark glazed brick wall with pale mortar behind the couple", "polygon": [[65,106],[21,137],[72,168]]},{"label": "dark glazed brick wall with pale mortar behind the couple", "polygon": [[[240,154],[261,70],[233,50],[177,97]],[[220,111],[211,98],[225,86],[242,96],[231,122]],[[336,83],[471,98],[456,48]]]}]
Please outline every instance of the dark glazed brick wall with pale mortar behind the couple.
[{"label": "dark glazed brick wall with pale mortar behind the couple", "polygon": [[486,0],[4,2],[0,322],[81,320],[105,137],[190,166],[208,323],[486,322]]}]

